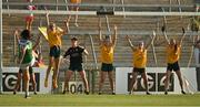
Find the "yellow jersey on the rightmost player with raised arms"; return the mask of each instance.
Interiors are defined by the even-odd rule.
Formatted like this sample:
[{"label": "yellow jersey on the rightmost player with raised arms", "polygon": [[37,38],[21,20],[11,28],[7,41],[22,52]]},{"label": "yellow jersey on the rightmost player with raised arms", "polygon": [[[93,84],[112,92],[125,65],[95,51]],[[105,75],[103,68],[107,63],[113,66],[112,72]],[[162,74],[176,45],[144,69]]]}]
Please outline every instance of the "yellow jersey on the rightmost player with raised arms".
[{"label": "yellow jersey on the rightmost player with raised arms", "polygon": [[167,63],[172,64],[179,61],[181,53],[181,45],[177,45],[177,52],[174,51],[176,46],[167,46]]}]

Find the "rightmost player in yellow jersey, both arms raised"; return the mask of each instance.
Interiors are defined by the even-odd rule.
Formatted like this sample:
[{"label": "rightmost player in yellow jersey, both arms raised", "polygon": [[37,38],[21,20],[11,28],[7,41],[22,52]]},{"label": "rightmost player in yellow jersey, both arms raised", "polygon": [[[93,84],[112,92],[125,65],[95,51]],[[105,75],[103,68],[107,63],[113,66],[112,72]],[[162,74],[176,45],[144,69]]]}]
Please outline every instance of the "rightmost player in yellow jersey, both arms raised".
[{"label": "rightmost player in yellow jersey, both arms raised", "polygon": [[186,94],[183,90],[183,79],[182,79],[182,75],[180,72],[180,66],[179,66],[179,58],[180,58],[180,54],[181,54],[181,44],[182,41],[184,39],[184,29],[182,29],[182,38],[180,41],[176,41],[174,39],[168,39],[166,31],[162,30],[163,34],[164,34],[164,39],[167,42],[167,63],[168,63],[168,67],[167,67],[167,73],[166,73],[166,81],[164,81],[164,88],[166,92],[164,94],[168,95],[168,89],[169,89],[169,82],[170,82],[170,76],[171,76],[171,72],[174,71],[178,79],[179,79],[179,84],[181,87],[181,93]]}]

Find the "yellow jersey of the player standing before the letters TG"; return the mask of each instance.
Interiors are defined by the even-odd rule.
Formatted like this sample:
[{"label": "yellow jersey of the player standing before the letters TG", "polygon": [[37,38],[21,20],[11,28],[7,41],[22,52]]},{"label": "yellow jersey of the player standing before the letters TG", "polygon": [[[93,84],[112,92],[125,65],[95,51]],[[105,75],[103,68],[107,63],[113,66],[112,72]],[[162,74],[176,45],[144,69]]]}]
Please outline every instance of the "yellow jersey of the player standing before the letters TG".
[{"label": "yellow jersey of the player standing before the letters TG", "polygon": [[133,66],[137,68],[144,68],[147,65],[147,50],[137,49],[133,52]]}]

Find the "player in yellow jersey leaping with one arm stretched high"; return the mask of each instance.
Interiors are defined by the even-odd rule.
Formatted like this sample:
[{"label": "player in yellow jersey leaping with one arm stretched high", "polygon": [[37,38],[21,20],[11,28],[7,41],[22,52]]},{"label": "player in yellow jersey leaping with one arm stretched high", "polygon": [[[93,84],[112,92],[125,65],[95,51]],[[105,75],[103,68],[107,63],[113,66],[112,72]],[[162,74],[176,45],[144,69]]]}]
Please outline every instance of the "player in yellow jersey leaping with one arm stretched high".
[{"label": "player in yellow jersey leaping with one arm stretched high", "polygon": [[50,74],[51,68],[53,67],[53,76],[52,76],[52,87],[57,88],[57,77],[60,66],[60,52],[61,52],[61,36],[68,33],[68,22],[64,22],[66,30],[59,30],[54,23],[49,23],[49,13],[46,15],[47,18],[47,34],[48,34],[48,42],[50,46],[49,53],[49,66],[46,74],[44,79],[44,87],[48,87],[48,77]]}]

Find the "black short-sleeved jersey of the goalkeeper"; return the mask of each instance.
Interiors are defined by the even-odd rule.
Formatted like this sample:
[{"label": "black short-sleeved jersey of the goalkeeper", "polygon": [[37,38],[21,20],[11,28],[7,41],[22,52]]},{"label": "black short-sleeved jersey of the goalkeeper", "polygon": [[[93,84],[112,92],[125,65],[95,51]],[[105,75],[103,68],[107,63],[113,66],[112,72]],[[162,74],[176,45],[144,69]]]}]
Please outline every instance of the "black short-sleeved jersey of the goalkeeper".
[{"label": "black short-sleeved jersey of the goalkeeper", "polygon": [[63,55],[64,57],[70,55],[70,65],[77,65],[82,63],[82,53],[84,49],[81,46],[70,47]]}]

